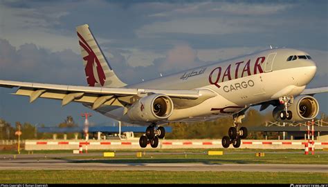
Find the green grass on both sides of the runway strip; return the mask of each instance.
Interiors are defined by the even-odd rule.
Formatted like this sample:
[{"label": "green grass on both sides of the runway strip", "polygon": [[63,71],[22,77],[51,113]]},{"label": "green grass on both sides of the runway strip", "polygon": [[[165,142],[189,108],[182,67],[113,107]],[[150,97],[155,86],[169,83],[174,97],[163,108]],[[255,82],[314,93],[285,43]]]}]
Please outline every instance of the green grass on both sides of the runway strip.
[{"label": "green grass on both sides of the runway strip", "polygon": [[[215,149],[220,150],[220,149]],[[222,149],[221,149],[222,150]],[[206,164],[328,164],[327,152],[316,155],[303,155],[300,150],[254,150],[227,149],[224,155],[209,156],[208,150],[145,150],[145,155],[136,157],[140,150],[116,150],[116,157],[104,158],[101,153],[113,150],[97,150],[91,153],[71,155],[71,150],[37,151],[40,158],[69,159],[80,163],[206,163]],[[255,152],[265,152],[265,157],[255,157]],[[1,154],[2,152],[0,152]],[[64,153],[64,157],[57,157]],[[27,152],[23,152],[23,155]],[[44,155],[56,154],[55,157]],[[8,155],[10,157],[11,155]],[[211,171],[111,171],[111,170],[0,170],[1,183],[38,183],[38,184],[81,184],[81,183],[239,183],[239,184],[308,184],[328,183],[328,173],[282,173],[282,172],[211,172]]]}]

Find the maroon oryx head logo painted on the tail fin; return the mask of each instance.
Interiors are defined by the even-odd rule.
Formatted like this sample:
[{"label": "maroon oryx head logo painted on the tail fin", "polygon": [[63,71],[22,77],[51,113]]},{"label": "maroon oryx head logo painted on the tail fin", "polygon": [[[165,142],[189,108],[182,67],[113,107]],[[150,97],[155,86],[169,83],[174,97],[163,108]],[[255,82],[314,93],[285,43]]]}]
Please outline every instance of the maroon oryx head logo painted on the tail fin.
[{"label": "maroon oryx head logo painted on the tail fin", "polygon": [[88,55],[83,57],[83,59],[86,61],[86,66],[84,68],[86,81],[88,82],[89,86],[95,86],[95,83],[100,83],[101,86],[104,86],[106,76],[104,75],[104,70],[102,70],[99,59],[79,32],[78,37],[80,38],[80,46],[84,48],[86,52],[88,52]]}]

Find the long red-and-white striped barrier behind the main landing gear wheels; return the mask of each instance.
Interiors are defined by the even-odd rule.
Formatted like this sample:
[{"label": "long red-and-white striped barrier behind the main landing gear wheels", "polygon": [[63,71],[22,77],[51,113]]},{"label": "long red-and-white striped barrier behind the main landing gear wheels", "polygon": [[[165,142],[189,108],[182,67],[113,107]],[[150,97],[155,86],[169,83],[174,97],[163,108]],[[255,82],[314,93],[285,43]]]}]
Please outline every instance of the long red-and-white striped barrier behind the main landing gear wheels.
[{"label": "long red-and-white striped barrier behind the main landing gear wheels", "polygon": [[[304,150],[304,140],[242,140],[240,148],[256,149],[300,149]],[[140,149],[138,139],[132,140],[26,140],[26,150],[78,150],[82,146],[88,150],[122,150]],[[328,148],[328,141],[316,141],[317,150]],[[170,139],[161,140],[158,148],[179,149],[179,148],[222,148],[221,139]],[[230,148],[233,148],[231,145]],[[145,149],[152,149],[147,146]]]}]

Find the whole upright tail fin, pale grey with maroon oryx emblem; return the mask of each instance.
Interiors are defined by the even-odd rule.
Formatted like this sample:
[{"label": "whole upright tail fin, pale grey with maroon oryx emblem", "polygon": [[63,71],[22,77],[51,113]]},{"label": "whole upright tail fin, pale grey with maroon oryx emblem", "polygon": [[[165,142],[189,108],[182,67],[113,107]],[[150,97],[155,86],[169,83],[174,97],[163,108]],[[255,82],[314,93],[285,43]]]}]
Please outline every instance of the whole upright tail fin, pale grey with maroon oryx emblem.
[{"label": "whole upright tail fin, pale grey with maroon oryx emblem", "polygon": [[109,66],[89,26],[86,24],[78,26],[76,31],[79,37],[86,81],[89,86],[116,88],[126,86],[127,84],[118,79],[111,66]]}]

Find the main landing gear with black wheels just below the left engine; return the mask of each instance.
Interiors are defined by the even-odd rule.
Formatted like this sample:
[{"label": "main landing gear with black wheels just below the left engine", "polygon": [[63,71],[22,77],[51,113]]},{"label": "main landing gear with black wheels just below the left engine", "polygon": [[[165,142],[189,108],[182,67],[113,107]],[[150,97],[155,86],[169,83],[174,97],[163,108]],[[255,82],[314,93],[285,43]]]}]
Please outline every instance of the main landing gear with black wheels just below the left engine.
[{"label": "main landing gear with black wheels just below the left engine", "polygon": [[152,148],[157,148],[158,139],[165,137],[165,128],[160,126],[156,129],[156,123],[151,124],[147,127],[145,135],[142,135],[139,139],[139,145],[141,148],[147,147],[150,144]]}]

